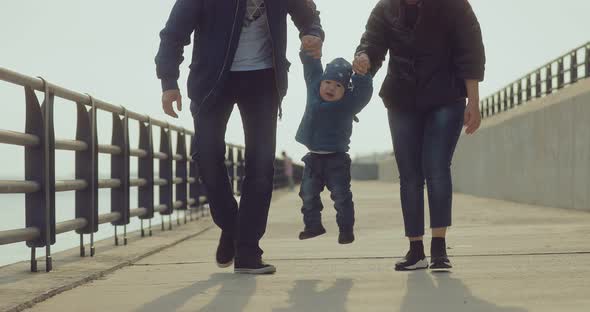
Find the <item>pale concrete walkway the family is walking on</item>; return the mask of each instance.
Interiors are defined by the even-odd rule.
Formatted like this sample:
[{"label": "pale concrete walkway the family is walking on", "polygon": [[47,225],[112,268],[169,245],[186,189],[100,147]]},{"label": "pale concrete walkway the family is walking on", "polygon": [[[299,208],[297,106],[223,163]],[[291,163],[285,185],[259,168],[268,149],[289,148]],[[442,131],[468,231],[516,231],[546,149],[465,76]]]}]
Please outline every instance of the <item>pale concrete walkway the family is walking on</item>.
[{"label": "pale concrete walkway the family is walking on", "polygon": [[328,234],[305,242],[296,238],[296,194],[274,200],[263,241],[274,276],[216,268],[214,228],[32,311],[588,311],[590,213],[456,195],[455,269],[400,273],[397,186],[355,183],[353,191],[357,241],[349,246],[336,242],[327,196]]}]

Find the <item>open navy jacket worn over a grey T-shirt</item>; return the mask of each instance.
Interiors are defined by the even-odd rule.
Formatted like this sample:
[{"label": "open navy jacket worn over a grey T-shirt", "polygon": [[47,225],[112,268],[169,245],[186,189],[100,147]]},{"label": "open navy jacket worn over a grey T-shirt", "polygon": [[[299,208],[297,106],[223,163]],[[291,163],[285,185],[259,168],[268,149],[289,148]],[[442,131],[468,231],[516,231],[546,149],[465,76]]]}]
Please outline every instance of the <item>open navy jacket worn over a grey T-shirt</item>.
[{"label": "open navy jacket worn over a grey T-shirt", "polygon": [[[165,28],[160,33],[156,71],[162,89],[178,89],[179,66],[184,46],[194,33],[194,48],[188,78],[188,96],[196,106],[215,101],[227,80],[238,47],[246,14],[246,0],[177,0]],[[319,12],[312,0],[265,0],[272,40],[277,92],[287,93],[289,62],[287,14],[300,35],[324,39]]]}]

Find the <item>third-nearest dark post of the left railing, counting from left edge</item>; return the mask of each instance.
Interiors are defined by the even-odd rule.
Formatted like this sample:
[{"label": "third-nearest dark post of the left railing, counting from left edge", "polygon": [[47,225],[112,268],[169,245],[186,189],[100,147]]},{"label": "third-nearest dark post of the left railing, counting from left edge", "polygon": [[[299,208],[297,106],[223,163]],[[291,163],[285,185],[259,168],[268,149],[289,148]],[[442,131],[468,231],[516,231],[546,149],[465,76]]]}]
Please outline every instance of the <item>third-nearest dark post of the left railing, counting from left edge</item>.
[{"label": "third-nearest dark post of the left railing, counting from left edge", "polygon": [[[121,149],[121,153],[111,156],[111,178],[119,179],[121,185],[111,190],[111,211],[120,213],[119,220],[111,224],[123,226],[123,244],[127,245],[127,224],[129,224],[129,118],[127,110],[123,108],[123,119],[113,113],[113,137],[112,144]],[[116,232],[115,232],[116,233]],[[118,237],[115,235],[115,244],[118,245]]]}]

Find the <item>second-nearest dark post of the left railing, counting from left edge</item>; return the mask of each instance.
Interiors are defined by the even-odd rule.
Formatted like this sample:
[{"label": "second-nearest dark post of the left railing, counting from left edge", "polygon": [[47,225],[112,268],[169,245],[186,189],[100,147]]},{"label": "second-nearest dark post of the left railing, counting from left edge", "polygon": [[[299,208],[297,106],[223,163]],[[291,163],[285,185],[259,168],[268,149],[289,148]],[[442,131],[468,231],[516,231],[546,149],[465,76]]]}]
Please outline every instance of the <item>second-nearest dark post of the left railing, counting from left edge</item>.
[{"label": "second-nearest dark post of the left railing, counting from left edge", "polygon": [[80,235],[80,257],[86,255],[84,249],[84,234],[90,234],[90,256],[94,257],[94,233],[98,231],[98,135],[96,125],[96,106],[90,97],[91,108],[77,103],[78,124],[76,140],[83,141],[88,146],[85,151],[76,152],[76,179],[84,180],[88,184],[83,190],[76,191],[76,218],[84,218],[87,224],[76,230]]}]

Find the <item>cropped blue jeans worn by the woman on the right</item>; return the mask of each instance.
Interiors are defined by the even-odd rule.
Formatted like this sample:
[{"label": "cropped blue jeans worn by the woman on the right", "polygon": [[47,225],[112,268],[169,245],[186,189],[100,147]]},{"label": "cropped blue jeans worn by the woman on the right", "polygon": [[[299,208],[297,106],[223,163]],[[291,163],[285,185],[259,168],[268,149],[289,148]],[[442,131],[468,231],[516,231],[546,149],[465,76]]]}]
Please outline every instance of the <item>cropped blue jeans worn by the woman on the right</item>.
[{"label": "cropped blue jeans worn by the woman on the right", "polygon": [[464,101],[427,112],[389,110],[408,237],[424,235],[425,180],[430,227],[451,225],[451,160],[463,128],[464,112]]}]

